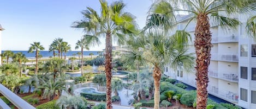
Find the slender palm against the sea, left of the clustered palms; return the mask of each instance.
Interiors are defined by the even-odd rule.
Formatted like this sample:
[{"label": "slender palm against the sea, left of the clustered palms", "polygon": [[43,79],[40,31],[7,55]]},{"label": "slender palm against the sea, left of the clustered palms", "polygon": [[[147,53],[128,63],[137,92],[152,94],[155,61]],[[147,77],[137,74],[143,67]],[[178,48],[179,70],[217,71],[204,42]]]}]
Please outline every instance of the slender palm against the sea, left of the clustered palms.
[{"label": "slender palm against the sea, left of the clustered palms", "polygon": [[29,47],[28,53],[34,53],[35,50],[35,75],[37,75],[38,72],[38,55],[40,50],[44,50],[44,47],[40,45],[40,42],[34,42],[31,43],[31,46]]}]

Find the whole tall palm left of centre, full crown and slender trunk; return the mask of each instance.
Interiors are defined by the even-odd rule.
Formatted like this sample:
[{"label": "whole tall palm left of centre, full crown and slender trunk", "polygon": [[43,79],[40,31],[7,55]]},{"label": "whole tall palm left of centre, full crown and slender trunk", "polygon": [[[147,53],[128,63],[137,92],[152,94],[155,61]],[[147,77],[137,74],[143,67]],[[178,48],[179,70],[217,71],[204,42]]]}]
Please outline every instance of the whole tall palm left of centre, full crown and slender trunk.
[{"label": "whole tall palm left of centre, full crown and slender trunk", "polygon": [[[112,36],[118,44],[123,44],[126,35],[137,33],[135,17],[129,12],[124,12],[125,4],[122,1],[108,4],[105,0],[99,0],[101,5],[100,15],[97,11],[87,7],[82,11],[84,19],[74,22],[75,28],[82,28],[92,36],[106,38],[105,48],[105,74],[106,74],[106,108],[111,108],[111,62],[112,62]],[[93,43],[96,44],[96,43]]]}]

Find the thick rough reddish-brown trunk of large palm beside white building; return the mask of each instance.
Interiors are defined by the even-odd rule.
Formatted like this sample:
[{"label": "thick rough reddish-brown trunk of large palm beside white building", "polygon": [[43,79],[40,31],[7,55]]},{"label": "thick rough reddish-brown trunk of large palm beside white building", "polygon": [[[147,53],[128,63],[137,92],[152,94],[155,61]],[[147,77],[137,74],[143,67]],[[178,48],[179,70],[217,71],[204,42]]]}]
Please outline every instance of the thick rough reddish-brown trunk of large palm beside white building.
[{"label": "thick rough reddish-brown trunk of large palm beside white building", "polygon": [[208,67],[211,59],[211,33],[209,18],[199,14],[195,27],[195,53],[197,54],[197,109],[205,109],[207,105]]}]

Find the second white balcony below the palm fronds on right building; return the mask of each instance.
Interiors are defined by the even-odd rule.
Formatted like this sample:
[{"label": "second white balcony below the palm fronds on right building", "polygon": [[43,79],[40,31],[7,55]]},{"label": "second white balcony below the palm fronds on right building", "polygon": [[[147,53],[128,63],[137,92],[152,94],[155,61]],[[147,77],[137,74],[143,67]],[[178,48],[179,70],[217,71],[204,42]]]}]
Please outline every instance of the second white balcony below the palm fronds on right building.
[{"label": "second white balcony below the palm fronds on right building", "polygon": [[227,62],[238,62],[239,55],[238,54],[218,54],[212,53],[211,60],[214,61],[227,61]]}]

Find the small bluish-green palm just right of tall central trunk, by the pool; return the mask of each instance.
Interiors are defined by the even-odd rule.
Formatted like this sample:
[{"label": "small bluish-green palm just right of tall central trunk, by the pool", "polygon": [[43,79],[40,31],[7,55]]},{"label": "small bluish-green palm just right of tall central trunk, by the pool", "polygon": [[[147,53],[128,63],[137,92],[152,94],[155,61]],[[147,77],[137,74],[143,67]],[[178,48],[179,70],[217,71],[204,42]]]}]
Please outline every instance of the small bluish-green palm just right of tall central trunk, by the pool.
[{"label": "small bluish-green palm just right of tall central trunk, by the pool", "polygon": [[111,81],[112,91],[114,91],[115,96],[118,96],[118,92],[123,89],[123,81],[120,78],[113,78]]}]

